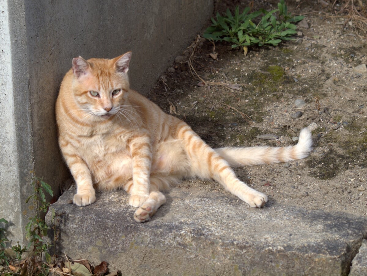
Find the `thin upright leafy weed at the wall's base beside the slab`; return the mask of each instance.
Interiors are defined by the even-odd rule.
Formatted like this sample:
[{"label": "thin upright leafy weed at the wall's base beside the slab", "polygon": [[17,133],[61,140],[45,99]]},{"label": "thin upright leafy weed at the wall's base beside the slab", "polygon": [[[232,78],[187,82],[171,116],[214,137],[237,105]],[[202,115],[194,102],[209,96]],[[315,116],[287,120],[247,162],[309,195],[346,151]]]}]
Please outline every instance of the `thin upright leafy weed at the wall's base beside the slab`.
[{"label": "thin upright leafy weed at the wall's base beside the slab", "polygon": [[51,256],[47,252],[50,244],[43,239],[47,236],[48,226],[42,217],[43,214],[46,213],[48,205],[50,205],[50,203],[46,201],[45,192],[51,196],[53,196],[53,192],[50,185],[37,177],[32,179],[32,187],[33,194],[29,196],[26,203],[30,199],[33,199],[35,214],[34,217],[29,218],[30,221],[25,227],[26,239],[29,241],[27,249],[33,244],[33,254],[39,255],[40,258],[41,255],[44,254],[47,262],[51,262]]}]

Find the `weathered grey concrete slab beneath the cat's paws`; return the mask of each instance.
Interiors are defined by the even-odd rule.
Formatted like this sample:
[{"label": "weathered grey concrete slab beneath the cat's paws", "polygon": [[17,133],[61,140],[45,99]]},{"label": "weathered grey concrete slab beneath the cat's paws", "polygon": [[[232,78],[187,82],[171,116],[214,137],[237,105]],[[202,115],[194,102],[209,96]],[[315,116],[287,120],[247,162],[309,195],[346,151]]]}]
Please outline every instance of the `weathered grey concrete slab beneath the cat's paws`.
[{"label": "weathered grey concrete slab beneath the cat's paws", "polygon": [[[172,189],[143,224],[123,191],[98,194],[86,207],[68,203],[74,192],[51,206],[57,252],[108,261],[125,275],[347,275],[367,236],[365,218],[273,200],[249,209],[200,184]],[[54,225],[50,213],[47,223]]]}]

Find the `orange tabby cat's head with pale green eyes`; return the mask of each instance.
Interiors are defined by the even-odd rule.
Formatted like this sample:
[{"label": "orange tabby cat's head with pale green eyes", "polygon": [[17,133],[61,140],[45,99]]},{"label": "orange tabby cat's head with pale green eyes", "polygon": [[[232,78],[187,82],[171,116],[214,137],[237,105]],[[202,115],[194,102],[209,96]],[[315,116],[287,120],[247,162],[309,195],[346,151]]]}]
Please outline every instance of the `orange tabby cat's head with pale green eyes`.
[{"label": "orange tabby cat's head with pale green eyes", "polygon": [[73,95],[88,117],[108,119],[119,112],[129,91],[130,59],[131,52],[113,59],[73,59]]}]

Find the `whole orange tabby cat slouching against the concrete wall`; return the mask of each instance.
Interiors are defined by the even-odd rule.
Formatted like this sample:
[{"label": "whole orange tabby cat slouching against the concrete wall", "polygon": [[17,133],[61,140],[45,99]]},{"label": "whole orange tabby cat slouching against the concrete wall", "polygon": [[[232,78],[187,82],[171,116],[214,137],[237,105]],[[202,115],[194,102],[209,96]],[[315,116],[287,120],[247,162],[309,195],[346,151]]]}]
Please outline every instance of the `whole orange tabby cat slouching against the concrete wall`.
[{"label": "whole orange tabby cat slouching against the concrete wall", "polygon": [[59,145],[76,181],[73,202],[95,201],[95,190],[124,188],[142,222],[166,202],[160,192],[183,177],[214,179],[251,207],[266,195],[237,179],[232,167],[306,157],[311,135],[303,129],[289,147],[212,149],[180,119],[129,87],[131,52],[114,59],[74,58],[56,102]]}]

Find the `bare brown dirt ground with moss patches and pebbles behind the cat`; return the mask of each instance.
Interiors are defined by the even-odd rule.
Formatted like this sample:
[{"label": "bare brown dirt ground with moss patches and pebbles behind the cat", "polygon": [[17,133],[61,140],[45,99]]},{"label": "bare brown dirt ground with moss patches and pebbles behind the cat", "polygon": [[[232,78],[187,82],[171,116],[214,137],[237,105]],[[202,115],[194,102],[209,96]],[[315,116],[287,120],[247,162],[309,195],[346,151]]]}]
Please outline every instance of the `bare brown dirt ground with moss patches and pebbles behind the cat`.
[{"label": "bare brown dirt ground with moss patches and pebbles behind the cat", "polygon": [[[254,2],[254,10],[271,10],[278,3]],[[332,3],[325,3],[286,1],[289,11],[307,21],[298,27],[296,40],[251,47],[247,56],[230,44],[215,43],[213,49],[210,41],[197,40],[177,56],[148,97],[212,147],[288,146],[309,126],[314,150],[308,158],[236,169],[237,175],[269,196],[265,207],[287,204],[366,217],[367,73],[355,68],[367,63],[367,40],[353,22],[330,16]],[[249,4],[216,1],[215,9],[239,5],[241,11]],[[305,106],[296,106],[296,100]],[[292,119],[297,111],[303,115]],[[279,138],[255,137],[265,134]],[[227,193],[212,181],[185,181],[177,188],[191,185]]]}]

